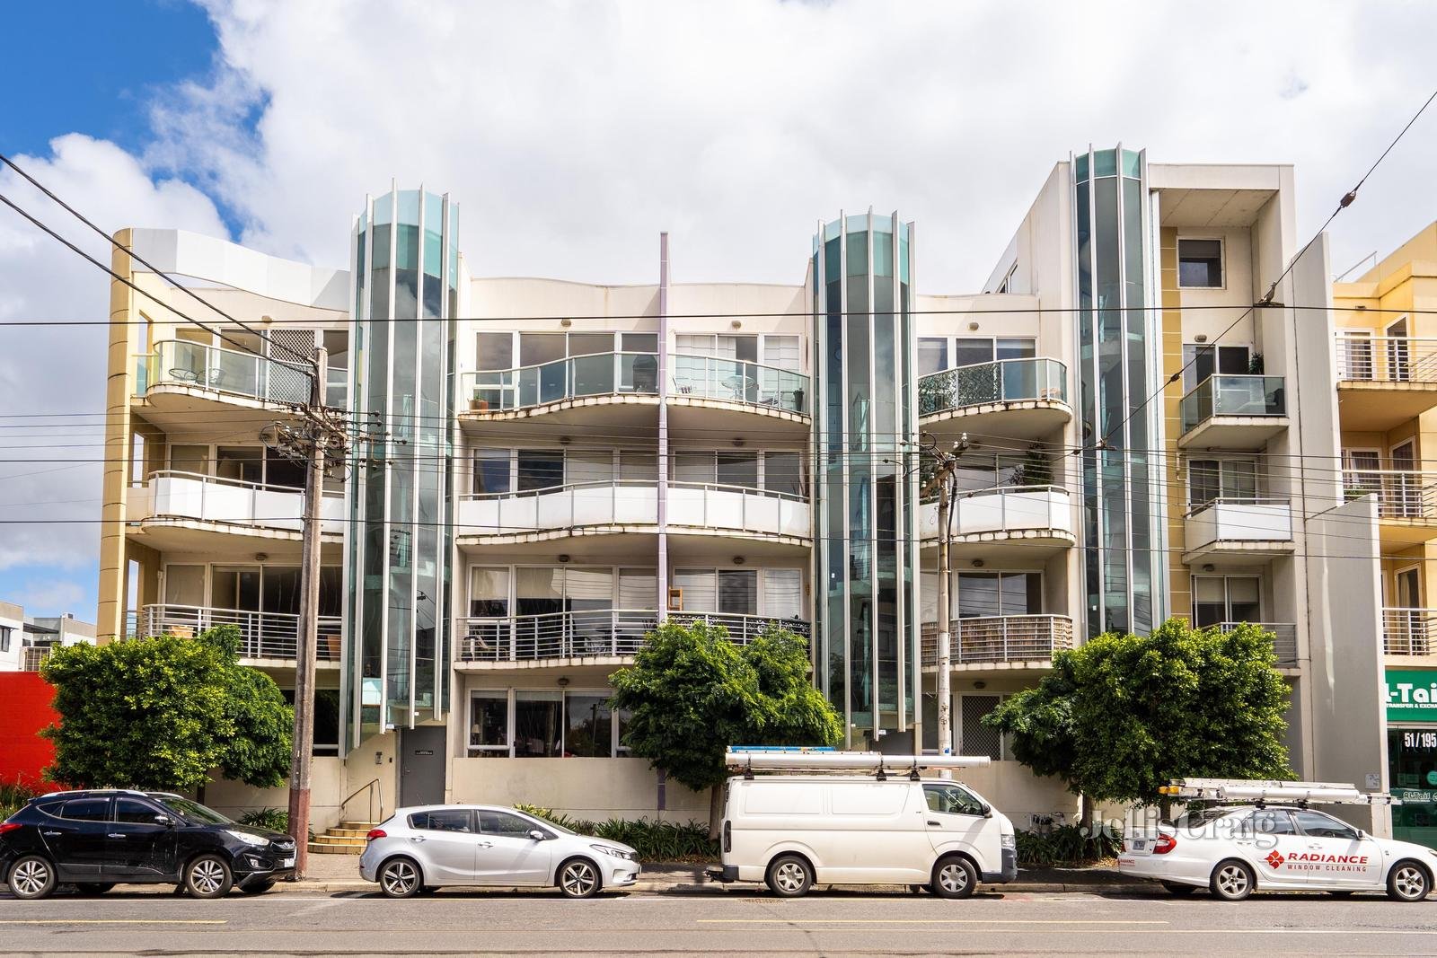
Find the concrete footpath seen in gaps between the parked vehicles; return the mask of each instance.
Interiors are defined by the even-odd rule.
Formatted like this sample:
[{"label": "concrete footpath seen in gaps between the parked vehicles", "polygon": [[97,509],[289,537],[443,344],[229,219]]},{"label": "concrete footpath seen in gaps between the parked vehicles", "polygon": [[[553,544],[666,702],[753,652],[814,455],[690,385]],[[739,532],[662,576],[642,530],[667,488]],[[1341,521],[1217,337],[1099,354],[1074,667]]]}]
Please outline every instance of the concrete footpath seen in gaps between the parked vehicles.
[{"label": "concrete footpath seen in gaps between the parked vehicles", "polygon": [[[690,865],[681,862],[655,862],[645,865],[639,873],[639,880],[625,886],[627,892],[647,892],[664,895],[721,895],[726,888],[752,892],[762,888],[752,882],[734,882],[723,885],[711,882],[704,875],[708,865]],[[131,885],[128,890],[154,890],[168,886]],[[861,886],[855,886],[861,888]],[[884,886],[890,888],[890,886]],[[378,892],[379,886],[359,878],[358,855],[310,855],[309,873],[303,880],[282,882],[276,892]],[[514,889],[523,890],[523,889]],[[543,889],[533,889],[543,890]],[[1154,882],[1118,875],[1112,866],[1072,868],[1072,869],[1019,869],[1017,880],[1007,885],[981,885],[981,892],[1125,892],[1144,893],[1161,892],[1161,886]]]}]

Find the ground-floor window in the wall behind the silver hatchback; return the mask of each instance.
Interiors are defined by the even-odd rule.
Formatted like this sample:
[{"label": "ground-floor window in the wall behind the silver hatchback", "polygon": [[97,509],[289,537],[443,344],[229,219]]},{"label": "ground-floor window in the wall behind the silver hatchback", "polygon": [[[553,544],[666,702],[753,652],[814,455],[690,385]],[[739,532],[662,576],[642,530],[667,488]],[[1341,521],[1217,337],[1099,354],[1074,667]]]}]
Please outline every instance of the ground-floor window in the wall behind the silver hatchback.
[{"label": "ground-floor window in the wall behind the silver hatchback", "polygon": [[621,744],[627,712],[608,691],[493,689],[470,694],[468,754],[503,758],[608,758]]}]

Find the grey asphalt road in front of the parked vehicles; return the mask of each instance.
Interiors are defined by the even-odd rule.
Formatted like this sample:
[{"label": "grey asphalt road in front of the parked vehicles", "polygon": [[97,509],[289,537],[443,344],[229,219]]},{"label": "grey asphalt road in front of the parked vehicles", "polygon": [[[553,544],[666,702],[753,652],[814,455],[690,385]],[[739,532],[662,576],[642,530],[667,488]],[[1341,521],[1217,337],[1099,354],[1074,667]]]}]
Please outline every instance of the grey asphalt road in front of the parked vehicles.
[{"label": "grey asphalt road in front of the parked vehicles", "polygon": [[604,895],[441,890],[394,902],[272,892],[197,902],[171,893],[0,895],[0,951],[47,955],[1437,955],[1437,899],[1380,896],[981,895],[894,892],[779,901],[757,890]]}]

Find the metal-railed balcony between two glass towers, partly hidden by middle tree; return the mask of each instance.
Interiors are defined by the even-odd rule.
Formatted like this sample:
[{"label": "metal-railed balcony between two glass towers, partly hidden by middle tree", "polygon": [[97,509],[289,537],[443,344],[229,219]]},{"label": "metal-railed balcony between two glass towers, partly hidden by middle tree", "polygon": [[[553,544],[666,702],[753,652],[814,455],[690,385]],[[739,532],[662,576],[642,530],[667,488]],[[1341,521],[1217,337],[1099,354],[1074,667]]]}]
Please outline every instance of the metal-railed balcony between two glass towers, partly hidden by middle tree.
[{"label": "metal-railed balcony between two glass towers, partly hidden by middle tree", "polygon": [[[802,619],[727,612],[670,612],[680,622],[721,625],[729,638],[750,642],[770,623],[809,638]],[[585,609],[546,615],[458,619],[456,662],[471,668],[611,665],[632,661],[644,636],[658,628],[652,609]]]}]

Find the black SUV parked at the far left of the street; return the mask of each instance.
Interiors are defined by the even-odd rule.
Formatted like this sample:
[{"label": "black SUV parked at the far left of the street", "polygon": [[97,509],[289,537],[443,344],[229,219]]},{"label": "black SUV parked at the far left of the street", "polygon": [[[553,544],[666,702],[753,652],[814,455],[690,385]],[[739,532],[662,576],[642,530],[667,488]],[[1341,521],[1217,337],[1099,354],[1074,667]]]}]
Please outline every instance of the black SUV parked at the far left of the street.
[{"label": "black SUV parked at the far left of the street", "polygon": [[194,898],[257,895],[295,875],[295,840],[165,791],[52,791],[0,823],[0,880],[16,898],[60,882],[101,895],[170,883]]}]

